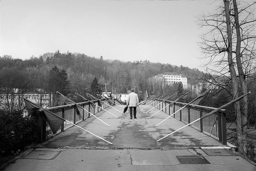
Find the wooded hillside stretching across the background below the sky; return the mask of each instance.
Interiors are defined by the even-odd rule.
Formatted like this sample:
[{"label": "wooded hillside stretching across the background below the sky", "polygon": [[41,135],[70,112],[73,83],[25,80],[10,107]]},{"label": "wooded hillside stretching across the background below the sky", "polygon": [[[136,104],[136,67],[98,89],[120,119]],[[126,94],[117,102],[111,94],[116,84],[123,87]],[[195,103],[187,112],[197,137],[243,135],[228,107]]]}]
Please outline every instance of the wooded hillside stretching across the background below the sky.
[{"label": "wooded hillside stretching across the background below the sky", "polygon": [[[172,59],[166,62],[171,61]],[[54,68],[55,66],[57,68]],[[104,84],[107,83],[110,92],[126,93],[134,87],[140,95],[140,92],[146,89],[149,94],[153,94],[153,78],[157,74],[176,72],[186,76],[188,83],[193,82],[194,75],[200,74],[196,68],[178,67],[169,63],[153,63],[146,60],[133,62],[105,60],[102,56],[95,58],[81,53],[60,53],[59,51],[45,53],[39,57],[32,56],[28,60],[13,59],[11,56],[4,55],[0,57],[0,69],[2,73],[8,70],[9,74],[18,71],[24,75],[27,81],[26,89],[29,91],[59,90],[69,96],[74,95],[75,92],[81,94],[90,92],[90,85],[95,76],[99,80],[100,87],[104,88]],[[62,72],[62,75],[66,74],[67,78],[62,79],[68,85],[53,85],[58,84],[60,79],[58,72]],[[19,78],[14,79],[20,80]],[[3,82],[8,82],[8,80],[3,80]],[[61,89],[65,89],[65,92]],[[155,92],[157,91],[155,87]]]}]

